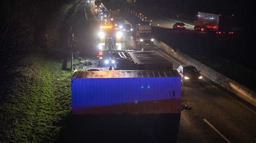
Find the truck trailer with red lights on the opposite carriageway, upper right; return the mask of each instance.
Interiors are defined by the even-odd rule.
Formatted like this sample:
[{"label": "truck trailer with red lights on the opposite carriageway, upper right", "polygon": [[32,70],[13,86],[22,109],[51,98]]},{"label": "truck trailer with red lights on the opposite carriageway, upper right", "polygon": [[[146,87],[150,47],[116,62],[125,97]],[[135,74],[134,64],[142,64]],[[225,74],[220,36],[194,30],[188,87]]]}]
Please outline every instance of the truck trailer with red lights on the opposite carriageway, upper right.
[{"label": "truck trailer with red lights on the opposite carriageway, upper right", "polygon": [[197,12],[194,20],[194,29],[217,34],[233,34],[233,15]]}]

